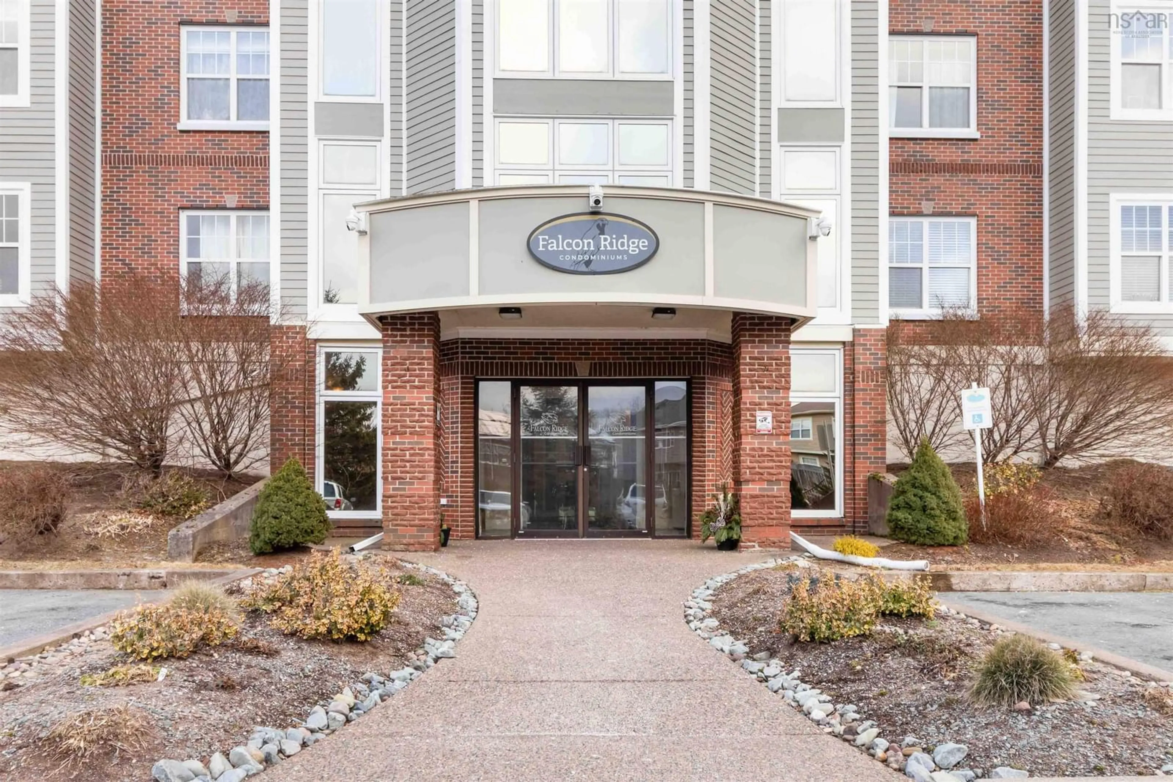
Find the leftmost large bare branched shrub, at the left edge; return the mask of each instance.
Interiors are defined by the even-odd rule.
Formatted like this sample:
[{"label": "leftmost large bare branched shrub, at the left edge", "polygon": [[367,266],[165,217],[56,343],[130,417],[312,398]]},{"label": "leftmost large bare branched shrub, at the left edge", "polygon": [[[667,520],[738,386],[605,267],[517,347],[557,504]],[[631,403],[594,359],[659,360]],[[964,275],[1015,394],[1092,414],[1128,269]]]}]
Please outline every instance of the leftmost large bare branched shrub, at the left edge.
[{"label": "leftmost large bare branched shrub, at the left edge", "polygon": [[174,290],[128,277],[79,283],[6,313],[0,400],[14,428],[158,475],[183,393]]}]

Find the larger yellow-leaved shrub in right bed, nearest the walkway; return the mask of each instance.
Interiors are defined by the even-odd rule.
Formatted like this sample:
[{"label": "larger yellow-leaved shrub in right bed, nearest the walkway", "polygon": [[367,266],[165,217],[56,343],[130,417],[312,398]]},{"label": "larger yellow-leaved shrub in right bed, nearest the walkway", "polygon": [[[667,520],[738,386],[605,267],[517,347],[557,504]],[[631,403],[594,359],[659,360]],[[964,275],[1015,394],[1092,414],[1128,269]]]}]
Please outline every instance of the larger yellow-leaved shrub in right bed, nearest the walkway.
[{"label": "larger yellow-leaved shrub in right bed, nearest the walkway", "polygon": [[794,583],[779,623],[800,641],[826,644],[867,635],[880,614],[880,592],[868,579],[849,582],[827,576]]}]

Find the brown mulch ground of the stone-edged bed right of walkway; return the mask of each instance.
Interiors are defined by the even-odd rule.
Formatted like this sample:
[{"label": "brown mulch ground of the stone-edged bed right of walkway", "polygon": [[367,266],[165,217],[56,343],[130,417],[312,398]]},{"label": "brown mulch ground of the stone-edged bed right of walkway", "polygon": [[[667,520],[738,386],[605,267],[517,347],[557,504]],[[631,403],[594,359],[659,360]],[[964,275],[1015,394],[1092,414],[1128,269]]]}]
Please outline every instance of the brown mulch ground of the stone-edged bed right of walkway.
[{"label": "brown mulch ground of the stone-edged bed right of walkway", "polygon": [[711,614],[720,632],[748,646],[747,657],[777,658],[835,703],[856,706],[897,747],[907,736],[927,749],[957,742],[969,747],[969,768],[1006,766],[1031,776],[1153,775],[1173,762],[1173,709],[1159,710],[1173,703],[1166,688],[1086,660],[1083,700],[1029,712],[981,708],[967,693],[975,664],[999,637],[997,625],[886,618],[869,637],[794,642],[778,630],[789,572],[760,570],[720,586]]}]

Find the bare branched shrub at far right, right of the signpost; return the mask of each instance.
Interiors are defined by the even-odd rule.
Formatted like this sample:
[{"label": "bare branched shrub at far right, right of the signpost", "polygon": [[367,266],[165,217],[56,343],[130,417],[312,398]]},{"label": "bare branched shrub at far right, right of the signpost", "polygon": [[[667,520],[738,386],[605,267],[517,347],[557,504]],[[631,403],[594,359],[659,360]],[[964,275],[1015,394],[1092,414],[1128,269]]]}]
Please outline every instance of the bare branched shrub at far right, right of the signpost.
[{"label": "bare branched shrub at far right, right of the signpost", "polygon": [[1046,320],[1039,353],[1026,390],[1044,468],[1128,455],[1168,435],[1173,361],[1152,328],[1064,308]]}]

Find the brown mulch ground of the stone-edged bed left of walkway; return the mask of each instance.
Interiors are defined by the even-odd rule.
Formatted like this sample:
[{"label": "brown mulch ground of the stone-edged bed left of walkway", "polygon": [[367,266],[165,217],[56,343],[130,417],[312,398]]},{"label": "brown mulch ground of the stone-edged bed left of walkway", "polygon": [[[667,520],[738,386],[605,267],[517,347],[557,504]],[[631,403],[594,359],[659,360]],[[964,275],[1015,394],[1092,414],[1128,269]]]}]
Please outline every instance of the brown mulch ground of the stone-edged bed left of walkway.
[{"label": "brown mulch ground of the stone-edged bed left of walkway", "polygon": [[[454,613],[457,596],[438,577],[406,570],[384,557],[402,578],[393,621],[365,644],[308,641],[269,627],[267,618],[245,614],[243,632],[224,646],[183,660],[160,660],[163,681],[124,687],[82,687],[79,678],[133,662],[104,635],[75,640],[40,655],[13,676],[0,674],[0,778],[41,780],[60,763],[42,739],[70,712],[129,702],[154,722],[147,747],[116,761],[108,757],[73,769],[81,778],[148,780],[158,757],[202,757],[244,742],[253,726],[297,726],[310,707],[364,673],[402,668],[428,635],[440,635],[440,618]],[[422,583],[419,583],[419,582]],[[407,583],[404,583],[407,582]],[[244,639],[245,642],[240,642]],[[88,642],[87,642],[88,640]],[[62,776],[69,776],[63,773]]]}]

